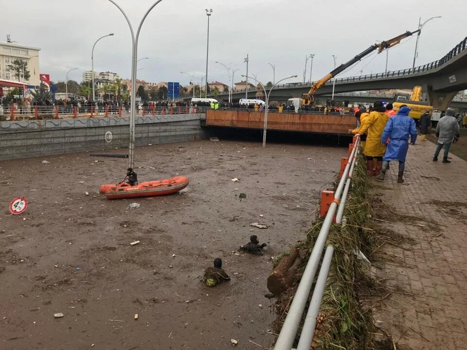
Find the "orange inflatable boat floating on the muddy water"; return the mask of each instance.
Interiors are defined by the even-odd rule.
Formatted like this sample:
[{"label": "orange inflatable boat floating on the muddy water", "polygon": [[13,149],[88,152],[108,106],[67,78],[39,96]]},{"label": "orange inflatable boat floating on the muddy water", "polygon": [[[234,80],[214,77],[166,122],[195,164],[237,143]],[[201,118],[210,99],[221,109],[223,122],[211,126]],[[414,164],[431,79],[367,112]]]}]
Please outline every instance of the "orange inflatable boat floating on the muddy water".
[{"label": "orange inflatable boat floating on the muddy water", "polygon": [[165,180],[141,182],[136,186],[127,183],[101,185],[99,192],[105,194],[107,199],[152,197],[179,192],[187,187],[188,183],[188,177],[177,176]]}]

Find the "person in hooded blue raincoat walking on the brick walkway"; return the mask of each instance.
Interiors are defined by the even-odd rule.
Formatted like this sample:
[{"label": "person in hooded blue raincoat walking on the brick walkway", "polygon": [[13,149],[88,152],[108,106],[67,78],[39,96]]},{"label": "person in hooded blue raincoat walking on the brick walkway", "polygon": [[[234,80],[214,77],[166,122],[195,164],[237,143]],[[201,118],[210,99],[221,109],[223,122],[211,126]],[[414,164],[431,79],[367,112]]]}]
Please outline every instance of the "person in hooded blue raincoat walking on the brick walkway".
[{"label": "person in hooded blue raincoat walking on the brick walkway", "polygon": [[417,139],[415,121],[409,117],[410,110],[411,109],[406,105],[402,105],[397,111],[397,114],[390,118],[384,127],[381,143],[386,143],[388,139],[390,139],[390,141],[386,147],[381,174],[376,177],[377,180],[384,180],[384,175],[386,175],[386,170],[391,160],[398,160],[399,174],[397,176],[397,182],[404,182],[403,175],[405,158],[409,150],[409,139],[410,143],[413,145]]}]

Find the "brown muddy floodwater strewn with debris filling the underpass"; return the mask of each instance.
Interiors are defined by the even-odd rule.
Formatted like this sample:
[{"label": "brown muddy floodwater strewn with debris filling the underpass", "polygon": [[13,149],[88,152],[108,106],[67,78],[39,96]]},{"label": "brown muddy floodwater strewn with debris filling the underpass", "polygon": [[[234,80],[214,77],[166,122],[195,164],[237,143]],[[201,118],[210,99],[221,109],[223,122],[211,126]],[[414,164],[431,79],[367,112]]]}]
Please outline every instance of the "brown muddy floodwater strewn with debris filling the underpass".
[{"label": "brown muddy floodwater strewn with debris filling the underpass", "polygon": [[[127,159],[0,162],[0,348],[229,349],[232,338],[239,349],[269,348],[271,258],[303,237],[345,154],[222,140],[139,147],[140,181],[180,174],[190,185],[115,201],[98,188],[121,180]],[[13,216],[18,195],[29,206]],[[127,209],[133,202],[141,207]],[[266,254],[234,254],[251,234],[268,244]],[[208,288],[200,277],[216,257],[232,280]]]}]

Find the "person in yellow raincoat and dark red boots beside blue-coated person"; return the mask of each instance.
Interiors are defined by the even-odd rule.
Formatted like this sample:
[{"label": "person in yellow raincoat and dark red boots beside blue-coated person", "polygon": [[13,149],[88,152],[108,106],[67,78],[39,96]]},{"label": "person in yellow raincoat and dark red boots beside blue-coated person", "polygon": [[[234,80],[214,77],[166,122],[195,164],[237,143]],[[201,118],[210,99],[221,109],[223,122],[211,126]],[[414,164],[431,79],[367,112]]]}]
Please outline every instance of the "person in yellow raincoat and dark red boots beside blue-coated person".
[{"label": "person in yellow raincoat and dark red boots beside blue-coated person", "polygon": [[[386,109],[382,102],[376,101],[370,115],[363,121],[358,129],[351,131],[353,134],[367,134],[363,155],[366,157],[366,170],[369,176],[379,175],[383,165],[383,156],[386,151],[386,145],[381,143],[381,135],[383,134],[384,127],[389,120],[385,111]],[[373,158],[377,159],[376,169],[374,169]]]}]

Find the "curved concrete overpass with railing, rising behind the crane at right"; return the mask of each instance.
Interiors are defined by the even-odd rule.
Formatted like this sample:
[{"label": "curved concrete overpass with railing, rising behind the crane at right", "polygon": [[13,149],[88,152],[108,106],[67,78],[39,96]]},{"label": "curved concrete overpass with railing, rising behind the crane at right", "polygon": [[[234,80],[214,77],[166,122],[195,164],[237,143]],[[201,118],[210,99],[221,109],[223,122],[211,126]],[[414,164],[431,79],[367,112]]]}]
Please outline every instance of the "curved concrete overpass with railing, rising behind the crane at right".
[{"label": "curved concrete overpass with railing, rising behind the crane at right", "polygon": [[[333,82],[334,80],[327,82],[316,96],[319,98],[331,94]],[[270,99],[285,101],[292,97],[301,97],[308,92],[312,84],[308,82],[278,85],[272,90]],[[467,37],[439,60],[415,69],[337,78],[335,92],[412,89],[415,85],[421,85],[423,91],[428,93],[429,103],[434,109],[446,110],[454,96],[467,89]],[[245,94],[245,89],[235,90],[233,99],[239,100],[245,97]],[[254,98],[255,94],[256,90],[248,91],[250,98]],[[228,94],[220,94],[217,98],[227,101]]]}]

